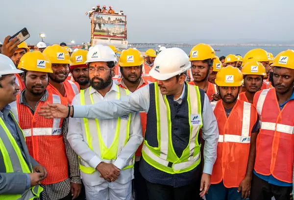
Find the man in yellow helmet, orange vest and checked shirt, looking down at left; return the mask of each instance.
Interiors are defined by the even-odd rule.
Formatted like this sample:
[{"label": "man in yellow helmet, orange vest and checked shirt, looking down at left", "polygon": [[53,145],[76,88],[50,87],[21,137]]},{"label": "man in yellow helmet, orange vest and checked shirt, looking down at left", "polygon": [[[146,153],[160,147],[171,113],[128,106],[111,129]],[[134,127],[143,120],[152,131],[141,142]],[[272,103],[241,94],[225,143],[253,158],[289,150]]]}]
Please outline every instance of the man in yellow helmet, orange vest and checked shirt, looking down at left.
[{"label": "man in yellow helmet, orange vest and checked shirt, looking down at left", "polygon": [[67,106],[68,102],[46,90],[52,69],[49,59],[40,51],[26,53],[18,68],[24,71],[25,89],[17,97],[15,116],[24,131],[29,154],[48,171],[47,179],[41,181],[41,199],[74,199],[79,196],[81,179],[77,155],[66,140],[68,120],[47,120],[37,113],[47,103]]}]

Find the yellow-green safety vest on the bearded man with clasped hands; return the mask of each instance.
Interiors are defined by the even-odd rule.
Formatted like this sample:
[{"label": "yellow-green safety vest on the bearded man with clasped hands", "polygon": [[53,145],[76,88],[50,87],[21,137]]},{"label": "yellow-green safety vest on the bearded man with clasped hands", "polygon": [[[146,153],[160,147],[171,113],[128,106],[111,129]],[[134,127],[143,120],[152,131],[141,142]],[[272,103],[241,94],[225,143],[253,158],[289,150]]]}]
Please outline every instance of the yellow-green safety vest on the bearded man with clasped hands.
[{"label": "yellow-green safety vest on the bearded man with clasped hands", "polygon": [[[117,99],[120,99],[121,96],[126,96],[129,94],[128,90],[120,88],[116,85],[119,92],[117,92]],[[87,88],[86,90],[81,90],[80,92],[80,101],[81,105],[88,105],[94,104],[94,100],[92,98],[92,94],[89,94],[92,87]],[[85,94],[86,93],[86,94]],[[89,98],[90,97],[90,98]],[[90,100],[89,100],[90,99]],[[113,140],[112,145],[107,148],[103,142],[102,135],[100,132],[99,121],[98,119],[87,119],[83,118],[84,120],[84,127],[85,127],[85,134],[86,134],[86,141],[89,145],[89,148],[94,151],[95,153],[106,163],[114,163],[117,157],[120,155],[124,145],[129,140],[129,126],[131,121],[131,114],[122,116],[118,118],[118,123],[116,127],[116,133]],[[98,134],[98,143],[99,146],[93,147],[92,145],[92,134]],[[97,140],[97,139],[96,139]],[[134,155],[135,157],[135,155]],[[132,168],[134,166],[134,157],[130,159],[129,165],[124,167],[123,169]],[[96,169],[90,167],[84,160],[79,158],[79,166],[80,170],[87,174],[92,174],[95,172]]]}]

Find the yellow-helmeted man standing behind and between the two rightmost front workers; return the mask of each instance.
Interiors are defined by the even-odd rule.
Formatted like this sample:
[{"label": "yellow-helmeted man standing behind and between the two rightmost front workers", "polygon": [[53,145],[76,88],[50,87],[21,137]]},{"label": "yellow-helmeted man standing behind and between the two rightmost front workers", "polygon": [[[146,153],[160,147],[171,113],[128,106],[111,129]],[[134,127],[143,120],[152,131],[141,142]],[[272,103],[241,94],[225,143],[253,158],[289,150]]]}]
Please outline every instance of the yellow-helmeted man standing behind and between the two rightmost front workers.
[{"label": "yellow-helmeted man standing behind and between the two rightmost front workers", "polygon": [[263,79],[267,75],[266,68],[261,62],[250,61],[242,68],[245,92],[239,94],[240,100],[253,103],[253,97],[261,89]]}]

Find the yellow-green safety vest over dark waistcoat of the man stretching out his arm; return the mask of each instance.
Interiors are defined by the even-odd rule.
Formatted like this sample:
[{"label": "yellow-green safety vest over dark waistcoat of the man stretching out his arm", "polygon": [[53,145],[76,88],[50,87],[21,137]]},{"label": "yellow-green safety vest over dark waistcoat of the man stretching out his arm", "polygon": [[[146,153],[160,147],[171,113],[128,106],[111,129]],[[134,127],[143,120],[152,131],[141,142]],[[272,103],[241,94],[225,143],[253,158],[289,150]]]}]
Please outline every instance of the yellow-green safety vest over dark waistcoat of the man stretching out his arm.
[{"label": "yellow-green safety vest over dark waistcoat of the man stretching out his arm", "polygon": [[[144,141],[142,155],[151,166],[169,174],[178,174],[194,169],[200,163],[199,130],[202,127],[200,92],[197,86],[187,85],[187,101],[190,124],[190,142],[178,158],[172,146],[171,109],[166,95],[159,94],[154,83],[157,117],[158,147],[151,147]],[[171,167],[169,164],[172,164]]]}]

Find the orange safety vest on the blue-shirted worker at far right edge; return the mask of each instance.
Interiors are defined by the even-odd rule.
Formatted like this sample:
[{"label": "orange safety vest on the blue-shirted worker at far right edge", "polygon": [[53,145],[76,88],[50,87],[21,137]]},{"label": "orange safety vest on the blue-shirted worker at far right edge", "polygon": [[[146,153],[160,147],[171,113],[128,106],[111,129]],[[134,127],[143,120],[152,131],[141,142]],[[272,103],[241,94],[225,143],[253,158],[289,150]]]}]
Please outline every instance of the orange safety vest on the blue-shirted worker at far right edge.
[{"label": "orange safety vest on the blue-shirted worker at far right edge", "polygon": [[280,110],[275,88],[272,88],[257,92],[253,103],[260,119],[254,169],[258,174],[292,183],[294,100],[288,101]]}]

